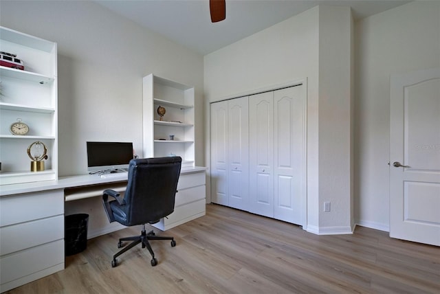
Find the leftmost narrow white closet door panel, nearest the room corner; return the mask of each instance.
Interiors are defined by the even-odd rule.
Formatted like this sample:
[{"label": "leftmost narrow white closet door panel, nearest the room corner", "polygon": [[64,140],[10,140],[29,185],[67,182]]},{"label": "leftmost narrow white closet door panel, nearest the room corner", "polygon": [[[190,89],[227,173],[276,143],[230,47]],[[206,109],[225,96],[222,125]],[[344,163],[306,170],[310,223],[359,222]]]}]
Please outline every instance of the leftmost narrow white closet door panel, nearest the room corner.
[{"label": "leftmost narrow white closet door panel, nearest the room corner", "polygon": [[211,201],[228,205],[228,102],[211,104]]}]

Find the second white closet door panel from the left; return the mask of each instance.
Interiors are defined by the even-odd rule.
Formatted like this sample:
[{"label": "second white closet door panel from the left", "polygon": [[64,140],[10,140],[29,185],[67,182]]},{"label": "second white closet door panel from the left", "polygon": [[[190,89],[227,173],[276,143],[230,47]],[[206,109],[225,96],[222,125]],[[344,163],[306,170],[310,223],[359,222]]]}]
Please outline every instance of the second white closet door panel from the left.
[{"label": "second white closet door panel from the left", "polygon": [[248,210],[249,105],[248,97],[228,100],[229,206]]}]

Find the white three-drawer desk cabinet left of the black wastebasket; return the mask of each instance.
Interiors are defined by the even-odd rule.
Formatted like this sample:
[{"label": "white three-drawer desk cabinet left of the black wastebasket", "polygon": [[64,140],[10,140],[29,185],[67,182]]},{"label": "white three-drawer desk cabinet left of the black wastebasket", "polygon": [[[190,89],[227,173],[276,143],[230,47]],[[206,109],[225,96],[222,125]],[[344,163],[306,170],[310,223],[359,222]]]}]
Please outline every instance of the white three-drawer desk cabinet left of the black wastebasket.
[{"label": "white three-drawer desk cabinet left of the black wastebasket", "polygon": [[64,192],[0,197],[1,292],[65,267]]}]

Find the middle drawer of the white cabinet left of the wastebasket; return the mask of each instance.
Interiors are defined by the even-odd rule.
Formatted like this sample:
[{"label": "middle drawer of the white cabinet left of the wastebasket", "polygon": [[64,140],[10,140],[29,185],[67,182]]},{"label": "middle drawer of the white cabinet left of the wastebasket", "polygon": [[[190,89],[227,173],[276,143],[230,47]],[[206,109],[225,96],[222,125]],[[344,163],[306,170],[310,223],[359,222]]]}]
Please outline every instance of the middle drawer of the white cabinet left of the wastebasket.
[{"label": "middle drawer of the white cabinet left of the wastebasket", "polygon": [[0,227],[0,255],[64,238],[64,216]]}]

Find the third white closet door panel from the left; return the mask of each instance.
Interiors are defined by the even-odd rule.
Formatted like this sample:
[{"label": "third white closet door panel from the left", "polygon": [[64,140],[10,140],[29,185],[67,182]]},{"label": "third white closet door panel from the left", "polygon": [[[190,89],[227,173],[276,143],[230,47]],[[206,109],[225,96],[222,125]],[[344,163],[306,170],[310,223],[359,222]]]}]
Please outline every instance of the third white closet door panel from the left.
[{"label": "third white closet door panel from the left", "polygon": [[250,205],[254,214],[274,217],[274,92],[251,95]]}]

